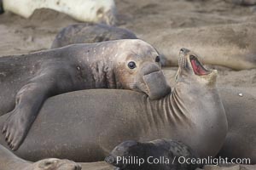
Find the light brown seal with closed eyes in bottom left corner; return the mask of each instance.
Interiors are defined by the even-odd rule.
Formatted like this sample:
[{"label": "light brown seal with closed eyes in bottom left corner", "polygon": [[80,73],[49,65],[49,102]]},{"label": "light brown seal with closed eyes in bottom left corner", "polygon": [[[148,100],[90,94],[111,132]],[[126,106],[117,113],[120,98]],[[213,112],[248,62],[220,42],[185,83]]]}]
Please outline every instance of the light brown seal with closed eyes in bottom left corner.
[{"label": "light brown seal with closed eyes in bottom left corner", "polygon": [[20,159],[0,144],[1,170],[81,170],[81,166],[74,161],[55,158],[30,162]]}]

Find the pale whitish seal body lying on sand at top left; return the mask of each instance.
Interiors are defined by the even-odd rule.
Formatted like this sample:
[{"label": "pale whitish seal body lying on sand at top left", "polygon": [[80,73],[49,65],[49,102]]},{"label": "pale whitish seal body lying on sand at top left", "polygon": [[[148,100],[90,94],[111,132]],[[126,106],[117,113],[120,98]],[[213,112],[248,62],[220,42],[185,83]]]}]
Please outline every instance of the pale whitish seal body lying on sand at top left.
[{"label": "pale whitish seal body lying on sand at top left", "polygon": [[113,0],[3,0],[3,8],[29,18],[38,8],[50,8],[84,22],[115,24],[116,8]]}]

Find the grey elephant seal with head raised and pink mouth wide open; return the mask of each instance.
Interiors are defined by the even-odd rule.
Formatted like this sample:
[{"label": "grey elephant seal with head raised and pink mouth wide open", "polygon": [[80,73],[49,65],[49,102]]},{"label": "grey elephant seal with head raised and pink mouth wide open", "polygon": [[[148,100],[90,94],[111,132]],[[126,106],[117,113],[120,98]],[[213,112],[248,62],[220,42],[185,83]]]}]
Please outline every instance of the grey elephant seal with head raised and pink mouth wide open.
[{"label": "grey elephant seal with head raised and pink mouth wide open", "polygon": [[[176,87],[159,100],[121,89],[90,89],[47,99],[15,154],[30,161],[102,161],[125,140],[173,139],[198,156],[215,156],[227,133],[217,71],[204,68],[187,49],[181,50],[179,60]],[[0,127],[7,116],[0,117]],[[1,136],[0,143],[5,144]]]}]

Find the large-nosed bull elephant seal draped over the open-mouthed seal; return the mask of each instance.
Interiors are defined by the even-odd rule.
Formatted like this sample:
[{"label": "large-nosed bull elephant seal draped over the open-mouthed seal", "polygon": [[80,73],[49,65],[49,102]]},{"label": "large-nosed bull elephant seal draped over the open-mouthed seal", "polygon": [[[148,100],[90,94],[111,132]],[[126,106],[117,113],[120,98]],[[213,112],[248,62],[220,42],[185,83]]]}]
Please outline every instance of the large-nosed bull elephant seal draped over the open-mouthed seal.
[{"label": "large-nosed bull elephant seal draped over the open-mouthed seal", "polygon": [[3,126],[9,146],[19,148],[44,100],[56,94],[88,88],[131,89],[150,99],[169,94],[158,55],[142,40],[117,40],[1,57],[0,116],[11,112]]}]

